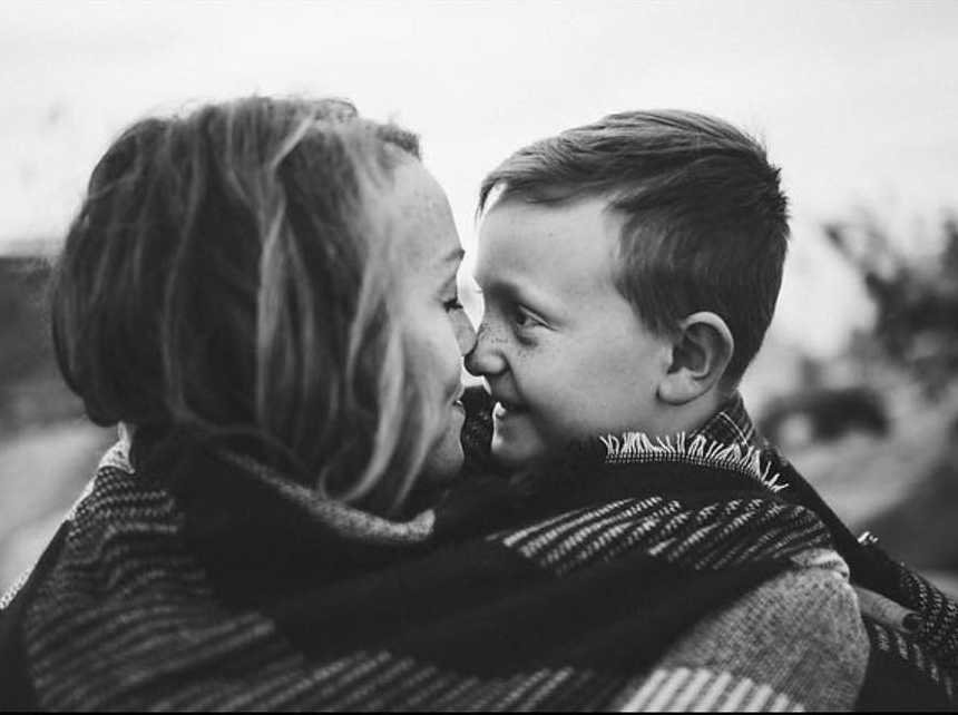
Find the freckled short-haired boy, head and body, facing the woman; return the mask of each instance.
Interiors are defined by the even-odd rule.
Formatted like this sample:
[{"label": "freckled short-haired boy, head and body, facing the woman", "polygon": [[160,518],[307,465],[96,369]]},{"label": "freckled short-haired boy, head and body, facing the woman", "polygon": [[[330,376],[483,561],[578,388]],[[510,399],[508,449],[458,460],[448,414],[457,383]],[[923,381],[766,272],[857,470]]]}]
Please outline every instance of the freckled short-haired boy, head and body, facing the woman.
[{"label": "freckled short-haired boy, head and body, facing the woman", "polygon": [[[659,496],[688,509],[675,522],[628,527],[662,531],[653,556],[684,556],[715,539],[691,564],[701,572],[778,540],[782,551],[772,557],[793,564],[713,610],[619,705],[707,709],[725,687],[715,676],[722,670],[734,684],[723,698],[763,684],[751,704],[764,697],[757,704],[766,707],[770,693],[810,708],[888,707],[892,694],[906,707],[947,704],[949,676],[916,689],[915,674],[927,670],[929,655],[954,667],[955,649],[926,630],[898,648],[909,654],[901,663],[889,656],[893,648],[882,644],[899,643],[915,618],[902,626],[900,605],[860,590],[869,614],[862,626],[845,561],[858,586],[882,590],[926,620],[947,621],[952,635],[956,614],[923,609],[931,594],[925,584],[889,586],[907,571],[858,545],[788,462],[764,449],[736,391],[771,321],[789,236],[779,169],[763,148],[702,115],[613,115],[514,154],[483,182],[479,214],[476,281],[485,314],[467,368],[485,378],[496,403],[492,456],[508,468],[548,471],[570,447],[598,438],[606,463],[641,466],[645,481],[667,490]],[[703,474],[703,467],[715,471]],[[710,521],[716,510],[741,507],[744,494],[731,494],[740,489],[734,479],[718,486],[735,472],[761,486],[750,494],[754,509]],[[597,474],[579,473],[578,481],[599,482]],[[618,488],[626,481],[619,476]],[[549,486],[545,480],[541,489]],[[730,491],[723,497],[722,489]],[[704,494],[714,501],[701,509]],[[788,525],[763,521],[783,502],[802,508],[796,519],[814,515],[812,521],[791,533]],[[619,538],[620,525],[604,526],[598,512],[574,522],[584,519],[597,526],[574,532],[566,542],[575,546],[563,548],[592,555]],[[683,533],[691,529],[683,519],[700,528]],[[741,528],[746,521],[754,528]],[[820,523],[844,561],[811,542],[785,556],[802,529]],[[882,617],[872,618],[879,610]]]}]

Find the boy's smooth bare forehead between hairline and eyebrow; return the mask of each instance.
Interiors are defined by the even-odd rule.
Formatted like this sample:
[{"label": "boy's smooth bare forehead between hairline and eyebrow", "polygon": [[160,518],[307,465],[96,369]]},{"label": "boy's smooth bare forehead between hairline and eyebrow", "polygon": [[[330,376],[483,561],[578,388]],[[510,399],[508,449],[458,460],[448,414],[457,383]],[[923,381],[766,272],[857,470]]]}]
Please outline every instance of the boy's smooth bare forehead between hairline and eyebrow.
[{"label": "boy's smooth bare forehead between hairline and eyebrow", "polygon": [[622,217],[600,197],[561,204],[497,202],[479,226],[479,283],[551,278],[557,287],[594,290],[610,283]]}]

